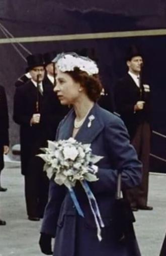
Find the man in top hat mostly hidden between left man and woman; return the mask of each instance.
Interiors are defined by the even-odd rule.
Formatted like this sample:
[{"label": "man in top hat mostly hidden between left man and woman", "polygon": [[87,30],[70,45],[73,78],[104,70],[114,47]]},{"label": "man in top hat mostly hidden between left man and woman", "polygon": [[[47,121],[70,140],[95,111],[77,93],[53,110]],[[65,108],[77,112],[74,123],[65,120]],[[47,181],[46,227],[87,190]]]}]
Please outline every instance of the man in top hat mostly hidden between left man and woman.
[{"label": "man in top hat mostly hidden between left man and woman", "polygon": [[43,83],[45,86],[49,86],[50,88],[50,95],[52,96],[52,106],[54,109],[54,130],[57,129],[59,122],[63,119],[63,117],[69,111],[69,108],[60,104],[60,101],[57,95],[54,93],[53,89],[55,87],[55,76],[56,76],[56,68],[55,62],[52,62],[53,59],[56,57],[56,52],[48,52],[43,55],[44,62],[45,62],[45,77]]}]

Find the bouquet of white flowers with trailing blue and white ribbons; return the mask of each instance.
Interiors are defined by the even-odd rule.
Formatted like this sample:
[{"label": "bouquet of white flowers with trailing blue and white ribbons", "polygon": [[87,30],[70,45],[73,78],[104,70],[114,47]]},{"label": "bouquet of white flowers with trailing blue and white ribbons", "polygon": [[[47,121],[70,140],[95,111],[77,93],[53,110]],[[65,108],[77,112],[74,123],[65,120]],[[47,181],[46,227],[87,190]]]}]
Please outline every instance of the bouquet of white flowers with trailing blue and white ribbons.
[{"label": "bouquet of white flowers with trailing blue and white ribbons", "polygon": [[44,171],[58,185],[65,185],[71,195],[78,214],[84,217],[74,190],[72,189],[76,181],[79,181],[88,196],[89,203],[95,218],[98,230],[98,238],[101,241],[101,227],[104,227],[100,210],[88,182],[98,180],[98,166],[95,165],[102,156],[92,154],[91,144],[82,144],[73,138],[59,140],[57,142],[48,141],[48,148],[42,148],[44,154],[39,154],[44,161]]}]

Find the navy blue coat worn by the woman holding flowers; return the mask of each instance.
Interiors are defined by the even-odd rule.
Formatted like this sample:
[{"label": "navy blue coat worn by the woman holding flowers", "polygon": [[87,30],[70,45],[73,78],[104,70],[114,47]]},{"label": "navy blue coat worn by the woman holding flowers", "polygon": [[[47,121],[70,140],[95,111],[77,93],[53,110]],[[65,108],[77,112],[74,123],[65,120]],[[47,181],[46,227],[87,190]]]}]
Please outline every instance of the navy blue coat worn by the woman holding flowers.
[{"label": "navy blue coat worn by the woman holding flowers", "polygon": [[[94,115],[95,119],[88,128],[90,115]],[[71,110],[58,127],[57,140],[68,139],[72,136],[74,118],[75,114]],[[118,172],[122,172],[123,188],[137,186],[141,181],[141,164],[137,160],[134,148],[129,144],[127,130],[120,118],[95,104],[75,139],[84,144],[91,143],[92,152],[104,156],[98,162],[99,180],[89,185],[99,204],[106,233],[102,232],[103,241],[100,246],[96,237],[94,218],[85,191],[79,183],[74,190],[85,214],[85,218],[80,219],[76,217],[77,212],[67,189],[64,186],[58,186],[53,181],[50,182],[49,202],[46,206],[41,232],[56,236],[53,255],[74,255],[74,248],[79,247],[81,254],[76,255],[129,256],[124,249],[125,244],[121,244],[121,247],[117,243],[115,246],[112,240],[114,236],[112,211]],[[80,226],[78,224],[75,228],[75,223],[79,223]]]}]

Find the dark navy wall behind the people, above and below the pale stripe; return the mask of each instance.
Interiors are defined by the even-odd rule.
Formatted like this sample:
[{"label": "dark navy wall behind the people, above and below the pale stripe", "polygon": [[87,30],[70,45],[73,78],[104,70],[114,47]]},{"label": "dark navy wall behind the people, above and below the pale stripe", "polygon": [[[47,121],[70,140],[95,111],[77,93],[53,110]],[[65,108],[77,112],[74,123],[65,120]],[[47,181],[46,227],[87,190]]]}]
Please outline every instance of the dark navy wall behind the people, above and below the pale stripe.
[{"label": "dark navy wall behind the people, above and below the pale stripe", "polygon": [[[23,3],[24,2],[24,3]],[[1,0],[0,25],[14,37],[61,35],[158,29],[166,27],[166,3],[158,0]],[[0,37],[5,34],[0,30]],[[144,54],[144,74],[152,90],[152,129],[166,135],[165,121],[165,36],[143,36],[110,39],[68,40],[25,43],[32,53],[51,50],[71,51],[94,48],[104,86],[110,93],[114,83],[126,72],[126,48],[136,43]],[[18,46],[26,57],[27,53]],[[18,126],[12,121],[14,82],[25,71],[26,62],[11,44],[0,45],[0,77],[8,92],[11,144],[19,141]],[[166,139],[152,136],[151,153],[166,158]],[[162,160],[151,157],[151,169],[166,172]]]}]

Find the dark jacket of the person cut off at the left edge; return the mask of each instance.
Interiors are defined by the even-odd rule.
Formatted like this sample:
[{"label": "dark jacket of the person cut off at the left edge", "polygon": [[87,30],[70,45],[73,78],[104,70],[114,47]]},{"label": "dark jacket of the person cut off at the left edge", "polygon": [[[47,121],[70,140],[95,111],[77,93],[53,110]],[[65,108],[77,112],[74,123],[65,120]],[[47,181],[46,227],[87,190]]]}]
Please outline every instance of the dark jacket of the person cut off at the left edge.
[{"label": "dark jacket of the person cut off at the left edge", "polygon": [[3,147],[9,145],[8,104],[4,87],[0,86],[0,170],[4,168]]}]

